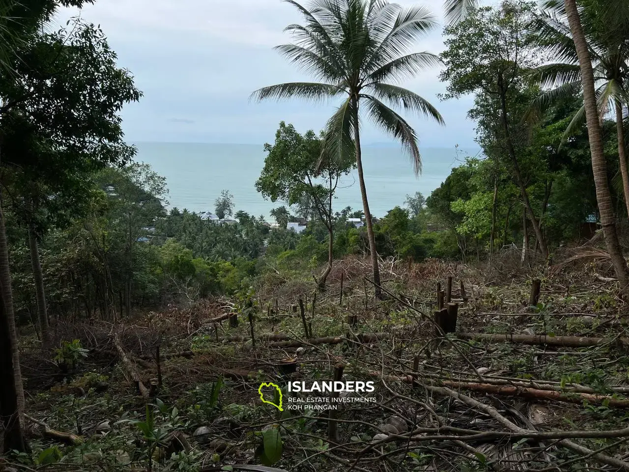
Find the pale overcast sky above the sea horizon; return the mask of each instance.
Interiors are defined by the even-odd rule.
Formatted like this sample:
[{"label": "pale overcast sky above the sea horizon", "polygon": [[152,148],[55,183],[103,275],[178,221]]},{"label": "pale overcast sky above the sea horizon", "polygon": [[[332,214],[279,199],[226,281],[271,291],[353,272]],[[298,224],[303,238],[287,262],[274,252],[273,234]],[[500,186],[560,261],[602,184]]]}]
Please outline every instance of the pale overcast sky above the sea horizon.
[{"label": "pale overcast sky above the sea horizon", "polygon": [[[398,0],[400,4],[416,4]],[[442,1],[423,0],[442,18]],[[62,10],[58,21],[77,14]],[[100,24],[118,64],[135,76],[144,96],[123,111],[130,142],[272,142],[279,121],[300,131],[318,131],[332,104],[299,100],[250,103],[252,91],[281,82],[309,80],[272,48],[291,42],[282,29],[302,23],[281,0],[97,0],[81,12]],[[441,26],[416,50],[443,50]],[[441,102],[439,70],[427,70],[403,85],[437,106],[446,126],[407,116],[423,147],[474,145],[474,123],[467,119],[471,99]],[[337,104],[338,106],[338,104]],[[363,142],[389,142],[369,123]]]}]

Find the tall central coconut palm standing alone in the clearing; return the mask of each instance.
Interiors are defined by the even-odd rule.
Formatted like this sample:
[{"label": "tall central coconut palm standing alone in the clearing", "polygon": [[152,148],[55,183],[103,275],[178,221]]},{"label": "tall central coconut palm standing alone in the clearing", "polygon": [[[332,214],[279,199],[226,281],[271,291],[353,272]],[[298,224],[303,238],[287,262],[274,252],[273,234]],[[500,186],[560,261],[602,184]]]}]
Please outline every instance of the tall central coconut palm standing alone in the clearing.
[{"label": "tall central coconut palm standing alone in the clearing", "polygon": [[264,87],[252,97],[260,101],[292,97],[341,101],[326,125],[323,154],[340,160],[353,155],[356,159],[376,297],[381,298],[376,240],[360,152],[359,110],[364,110],[364,118],[401,142],[419,174],[417,133],[390,107],[401,106],[443,124],[440,113],[426,99],[394,84],[440,63],[437,55],[429,52],[408,53],[418,38],[437,27],[437,20],[424,7],[402,8],[386,0],[313,0],[309,9],[294,0],[285,1],[303,14],[306,23],[287,26],[285,31],[293,33],[296,43],[276,49],[320,82]]}]

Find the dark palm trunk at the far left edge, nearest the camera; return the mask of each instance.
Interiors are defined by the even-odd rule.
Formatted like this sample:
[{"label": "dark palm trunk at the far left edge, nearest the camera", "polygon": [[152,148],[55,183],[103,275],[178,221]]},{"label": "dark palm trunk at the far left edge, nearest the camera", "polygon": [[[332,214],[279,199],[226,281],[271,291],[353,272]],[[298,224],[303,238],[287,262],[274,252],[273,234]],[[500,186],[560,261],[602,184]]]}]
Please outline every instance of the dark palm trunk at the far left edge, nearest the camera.
[{"label": "dark palm trunk at the far left edge, nearest the camera", "polygon": [[19,369],[18,336],[13,314],[13,291],[9,273],[9,250],[0,194],[0,421],[4,429],[0,452],[26,452],[24,439],[24,389]]}]

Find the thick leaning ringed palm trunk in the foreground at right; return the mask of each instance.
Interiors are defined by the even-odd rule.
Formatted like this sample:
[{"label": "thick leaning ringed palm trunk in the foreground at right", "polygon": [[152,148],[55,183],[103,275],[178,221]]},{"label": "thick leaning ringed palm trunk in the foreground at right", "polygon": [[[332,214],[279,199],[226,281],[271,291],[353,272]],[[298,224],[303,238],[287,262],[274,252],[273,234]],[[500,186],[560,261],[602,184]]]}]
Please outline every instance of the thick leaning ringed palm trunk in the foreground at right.
[{"label": "thick leaning ringed palm trunk in the foreground at right", "polygon": [[594,184],[596,185],[596,201],[601,215],[601,226],[605,244],[610,253],[611,262],[616,271],[616,277],[620,281],[624,293],[629,289],[629,269],[616,231],[616,218],[611,203],[610,183],[607,179],[607,163],[603,154],[603,130],[599,121],[596,105],[596,91],[594,89],[594,70],[589,51],[587,50],[586,37],[581,26],[581,18],[577,10],[576,0],[564,0],[565,12],[572,32],[572,39],[579,56],[581,66],[581,80],[583,82],[583,99],[587,118],[587,135],[589,137],[590,152],[592,154],[592,171]]}]

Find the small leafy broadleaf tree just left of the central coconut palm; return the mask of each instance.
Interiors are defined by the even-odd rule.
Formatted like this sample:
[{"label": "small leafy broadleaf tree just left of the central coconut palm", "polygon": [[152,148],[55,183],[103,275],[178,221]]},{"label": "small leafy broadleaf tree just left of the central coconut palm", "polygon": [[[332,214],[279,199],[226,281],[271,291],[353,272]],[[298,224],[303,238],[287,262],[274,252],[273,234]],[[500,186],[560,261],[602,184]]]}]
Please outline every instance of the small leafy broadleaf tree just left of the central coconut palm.
[{"label": "small leafy broadleaf tree just left of the central coconut palm", "polygon": [[352,170],[353,160],[324,159],[320,164],[320,138],[313,131],[301,135],[284,121],[279,124],[275,143],[265,144],[264,149],[267,157],[255,183],[258,191],[270,201],[282,200],[288,205],[299,205],[301,211],[314,211],[328,230],[328,266],[318,281],[323,287],[334,259],[332,200],[338,179]]}]

